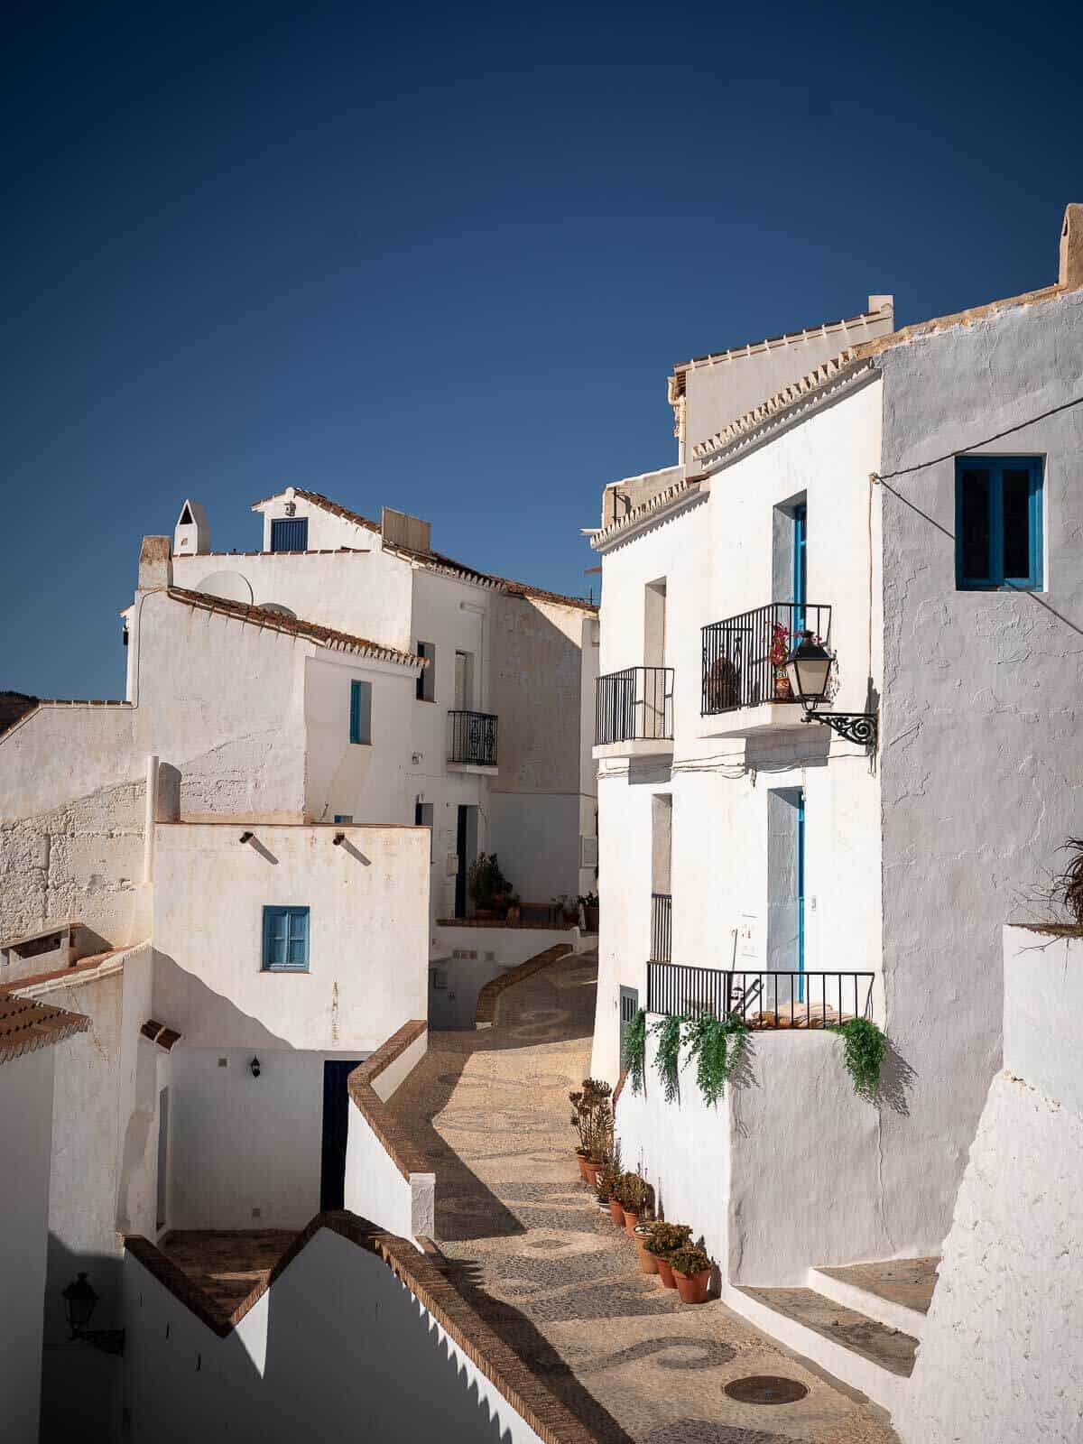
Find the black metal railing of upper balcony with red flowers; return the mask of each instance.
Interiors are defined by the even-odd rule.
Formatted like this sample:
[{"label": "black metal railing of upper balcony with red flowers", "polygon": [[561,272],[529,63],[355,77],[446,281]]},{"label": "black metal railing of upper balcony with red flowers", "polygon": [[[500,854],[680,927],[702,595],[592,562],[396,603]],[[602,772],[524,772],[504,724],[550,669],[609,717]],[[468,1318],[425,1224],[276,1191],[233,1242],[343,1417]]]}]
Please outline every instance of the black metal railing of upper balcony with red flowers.
[{"label": "black metal railing of upper balcony with red flowers", "polygon": [[832,609],[812,602],[771,602],[703,628],[703,700],[713,716],[761,702],[796,702],[780,667],[806,628],[830,645]]}]

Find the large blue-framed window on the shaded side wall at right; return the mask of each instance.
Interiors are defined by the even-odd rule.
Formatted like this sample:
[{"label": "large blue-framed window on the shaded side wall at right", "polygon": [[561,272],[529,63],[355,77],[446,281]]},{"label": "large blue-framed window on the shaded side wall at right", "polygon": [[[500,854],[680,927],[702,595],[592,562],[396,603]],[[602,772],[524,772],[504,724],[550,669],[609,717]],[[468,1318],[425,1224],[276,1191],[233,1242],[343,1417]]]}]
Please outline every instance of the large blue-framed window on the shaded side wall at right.
[{"label": "large blue-framed window on the shaded side wall at right", "polygon": [[956,456],[960,591],[1041,591],[1041,458]]}]

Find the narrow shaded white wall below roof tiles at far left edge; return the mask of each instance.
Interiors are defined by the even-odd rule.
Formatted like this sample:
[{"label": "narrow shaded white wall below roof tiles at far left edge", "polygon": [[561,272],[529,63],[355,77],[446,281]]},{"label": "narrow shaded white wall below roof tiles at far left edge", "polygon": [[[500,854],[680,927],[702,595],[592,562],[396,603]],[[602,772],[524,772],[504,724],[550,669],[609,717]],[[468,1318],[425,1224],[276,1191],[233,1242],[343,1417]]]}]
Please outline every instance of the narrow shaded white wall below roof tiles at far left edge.
[{"label": "narrow shaded white wall below roof tiles at far left edge", "polygon": [[39,1048],[0,1066],[0,1417],[12,1444],[38,1444],[53,1054]]}]

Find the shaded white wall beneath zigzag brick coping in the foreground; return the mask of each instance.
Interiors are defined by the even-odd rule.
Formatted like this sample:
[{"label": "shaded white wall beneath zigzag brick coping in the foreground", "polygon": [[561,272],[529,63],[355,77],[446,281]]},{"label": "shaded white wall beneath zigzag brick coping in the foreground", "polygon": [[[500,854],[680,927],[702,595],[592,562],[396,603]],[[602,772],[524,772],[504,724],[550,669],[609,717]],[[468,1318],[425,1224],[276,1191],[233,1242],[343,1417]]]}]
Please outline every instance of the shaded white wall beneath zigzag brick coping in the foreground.
[{"label": "shaded white wall beneath zigzag brick coping in the foreground", "polygon": [[383,1259],[326,1229],[225,1339],[131,1255],[126,1285],[133,1444],[540,1444]]}]

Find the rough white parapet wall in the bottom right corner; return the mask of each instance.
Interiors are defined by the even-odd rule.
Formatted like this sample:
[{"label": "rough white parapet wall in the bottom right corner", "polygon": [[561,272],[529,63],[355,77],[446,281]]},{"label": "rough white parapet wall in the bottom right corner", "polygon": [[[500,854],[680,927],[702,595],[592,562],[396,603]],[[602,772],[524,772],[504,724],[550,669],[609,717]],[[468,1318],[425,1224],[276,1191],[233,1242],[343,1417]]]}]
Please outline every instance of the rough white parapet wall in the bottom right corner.
[{"label": "rough white parapet wall in the bottom right corner", "polygon": [[989,1087],[907,1396],[905,1444],[1074,1444],[1083,1418],[1083,937],[1004,928]]}]

